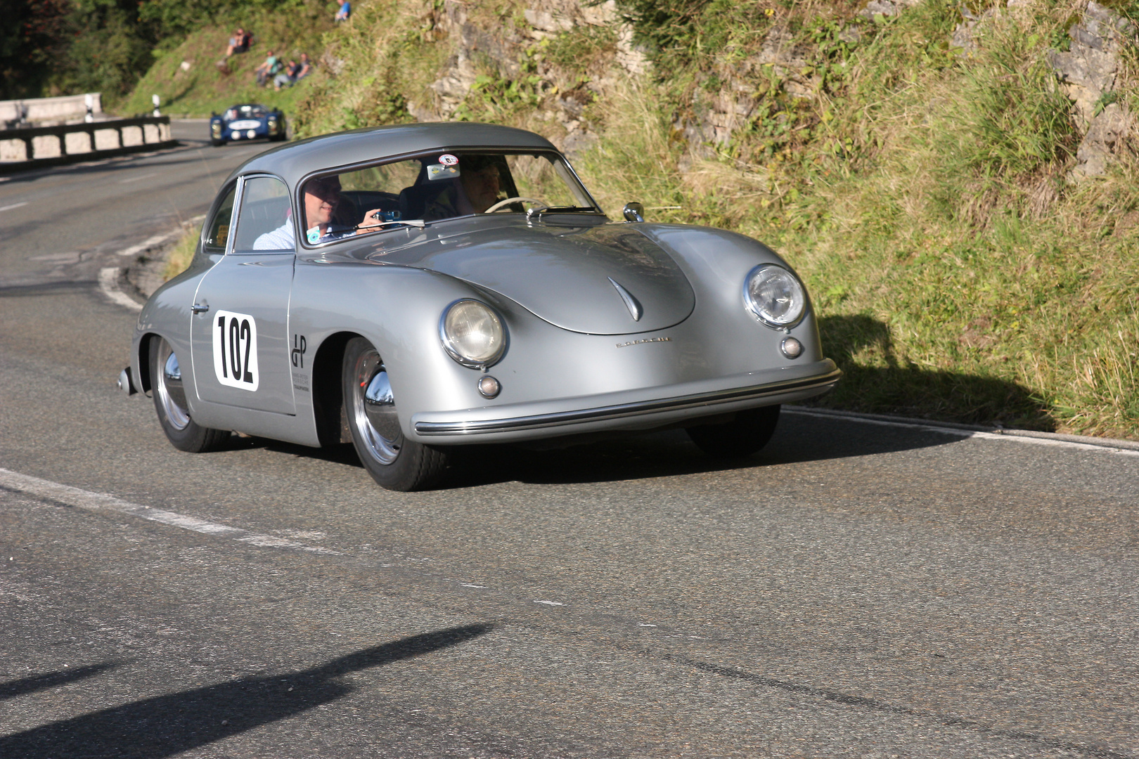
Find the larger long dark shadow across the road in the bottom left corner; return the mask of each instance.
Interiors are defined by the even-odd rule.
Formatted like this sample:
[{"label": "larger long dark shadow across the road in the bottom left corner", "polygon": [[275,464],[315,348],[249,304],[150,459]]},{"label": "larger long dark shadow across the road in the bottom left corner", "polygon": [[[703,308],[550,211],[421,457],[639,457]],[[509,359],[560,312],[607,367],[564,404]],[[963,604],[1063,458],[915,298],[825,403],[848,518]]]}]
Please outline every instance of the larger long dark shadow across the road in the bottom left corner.
[{"label": "larger long dark shadow across the road in the bottom left corner", "polygon": [[157,759],[287,719],[351,693],[341,676],[448,649],[490,633],[467,625],[413,635],[295,673],[243,677],[144,699],[0,736],[0,757]]}]

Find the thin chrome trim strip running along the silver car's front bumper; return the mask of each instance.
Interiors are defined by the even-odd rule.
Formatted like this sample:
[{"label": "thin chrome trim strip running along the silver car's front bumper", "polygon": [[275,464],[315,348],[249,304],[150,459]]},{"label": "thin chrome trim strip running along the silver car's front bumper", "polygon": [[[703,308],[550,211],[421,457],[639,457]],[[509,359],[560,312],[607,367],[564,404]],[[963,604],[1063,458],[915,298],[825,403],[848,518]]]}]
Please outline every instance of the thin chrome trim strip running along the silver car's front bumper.
[{"label": "thin chrome trim strip running along the silver car's front bumper", "polygon": [[[827,363],[830,362],[828,361]],[[834,364],[830,365],[834,366]],[[736,411],[741,402],[747,401],[776,398],[786,395],[794,395],[795,398],[819,395],[834,387],[842,374],[842,370],[836,368],[823,374],[812,377],[681,395],[671,398],[657,398],[547,414],[508,416],[503,419],[437,422],[416,421],[413,427],[416,434],[421,436],[469,436],[542,430],[571,424],[589,424],[591,422],[633,419],[649,414],[667,414],[669,412],[689,410],[707,410],[707,415],[713,415],[719,413],[722,406],[731,406],[724,407],[722,411]]]}]

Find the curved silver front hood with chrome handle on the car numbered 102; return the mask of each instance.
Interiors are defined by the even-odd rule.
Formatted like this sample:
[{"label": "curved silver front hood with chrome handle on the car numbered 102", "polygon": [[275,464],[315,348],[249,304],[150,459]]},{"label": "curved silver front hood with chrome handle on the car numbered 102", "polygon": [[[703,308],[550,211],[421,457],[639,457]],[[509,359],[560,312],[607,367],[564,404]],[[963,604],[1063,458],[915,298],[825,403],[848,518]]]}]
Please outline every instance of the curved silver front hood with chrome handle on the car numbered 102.
[{"label": "curved silver front hood with chrome handle on the car numbered 102", "polygon": [[400,254],[384,258],[493,290],[573,332],[659,330],[685,321],[696,306],[672,257],[630,224],[499,226]]}]

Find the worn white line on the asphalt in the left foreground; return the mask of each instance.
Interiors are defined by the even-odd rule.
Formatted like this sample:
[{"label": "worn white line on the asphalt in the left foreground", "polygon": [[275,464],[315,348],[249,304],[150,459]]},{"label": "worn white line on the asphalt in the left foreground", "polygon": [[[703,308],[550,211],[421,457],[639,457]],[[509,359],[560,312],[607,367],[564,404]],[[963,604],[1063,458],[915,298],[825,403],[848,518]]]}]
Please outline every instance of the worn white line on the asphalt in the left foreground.
[{"label": "worn white line on the asphalt in the left foreground", "polygon": [[76,509],[88,509],[90,511],[115,511],[123,514],[130,514],[132,517],[140,517],[153,522],[161,522],[171,527],[194,530],[195,533],[226,536],[235,541],[240,541],[241,543],[249,543],[252,545],[267,548],[296,548],[298,551],[311,551],[313,553],[328,553],[333,555],[341,554],[339,551],[333,551],[331,548],[309,546],[303,543],[287,541],[272,535],[259,535],[239,527],[219,525],[218,522],[198,519],[197,517],[179,514],[164,509],[151,509],[150,506],[142,506],[137,503],[123,501],[122,498],[116,498],[113,495],[82,490],[77,487],[60,485],[59,482],[52,482],[51,480],[40,479],[39,477],[32,477],[30,475],[21,475],[8,469],[0,469],[0,487],[9,490],[16,490],[17,493],[25,493],[40,498],[48,498],[50,501],[55,501],[56,503],[75,506]]}]

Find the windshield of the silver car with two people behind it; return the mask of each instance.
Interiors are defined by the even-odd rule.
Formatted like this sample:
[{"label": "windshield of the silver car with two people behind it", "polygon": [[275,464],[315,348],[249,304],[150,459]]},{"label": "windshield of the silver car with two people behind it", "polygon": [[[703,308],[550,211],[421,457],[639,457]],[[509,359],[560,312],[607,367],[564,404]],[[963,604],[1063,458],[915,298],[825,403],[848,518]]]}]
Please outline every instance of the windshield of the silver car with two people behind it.
[{"label": "windshield of the silver car with two people behind it", "polygon": [[474,214],[601,213],[549,151],[432,152],[312,179],[302,193],[310,245]]}]

